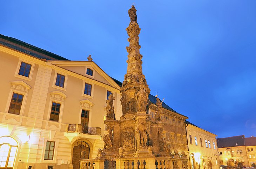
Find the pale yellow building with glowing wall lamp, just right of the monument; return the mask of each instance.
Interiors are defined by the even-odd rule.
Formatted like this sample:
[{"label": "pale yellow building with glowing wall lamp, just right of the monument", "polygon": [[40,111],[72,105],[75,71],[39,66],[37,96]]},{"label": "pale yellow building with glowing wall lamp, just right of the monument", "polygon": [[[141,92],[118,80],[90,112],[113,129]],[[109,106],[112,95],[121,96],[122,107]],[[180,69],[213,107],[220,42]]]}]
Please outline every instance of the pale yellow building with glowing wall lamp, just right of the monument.
[{"label": "pale yellow building with glowing wall lamp, just right of the monument", "polygon": [[217,135],[186,121],[191,169],[218,169]]}]

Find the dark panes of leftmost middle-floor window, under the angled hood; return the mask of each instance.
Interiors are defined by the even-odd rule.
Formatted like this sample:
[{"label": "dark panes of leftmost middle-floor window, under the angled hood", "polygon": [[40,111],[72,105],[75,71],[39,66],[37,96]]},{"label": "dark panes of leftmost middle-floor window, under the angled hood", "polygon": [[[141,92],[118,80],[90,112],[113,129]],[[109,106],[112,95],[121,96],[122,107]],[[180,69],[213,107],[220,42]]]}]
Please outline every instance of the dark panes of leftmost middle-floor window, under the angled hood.
[{"label": "dark panes of leftmost middle-floor window, under the angled hood", "polygon": [[13,93],[8,113],[13,113],[16,115],[20,114],[20,108],[21,108],[23,96],[24,95],[21,95],[18,93]]}]

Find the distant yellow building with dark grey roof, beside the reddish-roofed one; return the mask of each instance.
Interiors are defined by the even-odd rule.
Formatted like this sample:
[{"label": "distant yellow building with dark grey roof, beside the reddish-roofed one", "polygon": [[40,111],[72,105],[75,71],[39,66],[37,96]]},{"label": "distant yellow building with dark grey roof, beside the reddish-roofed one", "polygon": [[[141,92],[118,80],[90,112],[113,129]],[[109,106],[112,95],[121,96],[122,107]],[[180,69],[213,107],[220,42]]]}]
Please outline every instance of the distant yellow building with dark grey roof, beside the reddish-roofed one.
[{"label": "distant yellow building with dark grey roof, beside the reddish-roofed one", "polygon": [[243,166],[249,167],[244,135],[218,138],[217,145],[222,165],[227,166],[228,160],[233,159],[236,164],[242,163]]}]

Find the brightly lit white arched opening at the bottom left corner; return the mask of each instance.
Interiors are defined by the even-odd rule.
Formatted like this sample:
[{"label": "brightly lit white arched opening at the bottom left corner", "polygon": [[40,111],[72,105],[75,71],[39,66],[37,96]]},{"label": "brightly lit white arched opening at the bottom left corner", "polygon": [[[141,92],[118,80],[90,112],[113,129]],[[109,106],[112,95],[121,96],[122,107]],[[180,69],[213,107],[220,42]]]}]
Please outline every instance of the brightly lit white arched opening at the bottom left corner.
[{"label": "brightly lit white arched opening at the bottom left corner", "polygon": [[15,162],[18,142],[9,136],[0,137],[0,168],[12,169]]}]

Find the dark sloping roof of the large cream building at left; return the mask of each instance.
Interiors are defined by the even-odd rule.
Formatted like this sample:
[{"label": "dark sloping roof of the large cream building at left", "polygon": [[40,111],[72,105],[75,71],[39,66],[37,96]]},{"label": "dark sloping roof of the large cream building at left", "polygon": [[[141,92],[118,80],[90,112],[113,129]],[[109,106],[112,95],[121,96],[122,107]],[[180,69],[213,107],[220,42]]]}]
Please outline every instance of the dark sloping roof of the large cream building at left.
[{"label": "dark sloping roof of the large cream building at left", "polygon": [[39,47],[33,46],[26,42],[20,41],[18,39],[12,38],[12,37],[4,36],[1,34],[0,34],[0,45],[4,45],[6,47],[20,51],[22,53],[29,54],[29,55],[39,58],[39,59],[68,60],[68,59],[63,58],[63,57],[61,57],[57,54],[54,54],[52,52],[43,50]]}]

